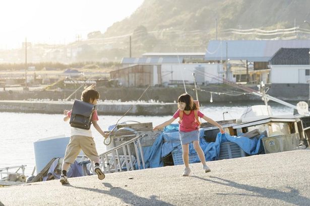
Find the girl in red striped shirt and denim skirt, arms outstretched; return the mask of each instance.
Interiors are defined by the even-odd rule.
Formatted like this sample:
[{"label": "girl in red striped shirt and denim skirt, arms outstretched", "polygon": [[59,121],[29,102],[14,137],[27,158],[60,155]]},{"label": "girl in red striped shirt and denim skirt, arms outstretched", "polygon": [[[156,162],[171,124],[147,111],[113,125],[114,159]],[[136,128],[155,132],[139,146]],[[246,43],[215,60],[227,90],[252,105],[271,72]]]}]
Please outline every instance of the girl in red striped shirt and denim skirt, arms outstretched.
[{"label": "girl in red striped shirt and denim skirt, arms outstretched", "polygon": [[179,134],[182,144],[183,152],[183,162],[185,169],[183,176],[189,176],[191,173],[190,164],[189,164],[189,144],[193,142],[194,149],[196,150],[198,157],[203,165],[205,172],[210,172],[210,168],[206,165],[205,154],[202,151],[199,145],[199,127],[200,122],[198,117],[203,118],[205,121],[211,123],[212,125],[218,127],[220,132],[225,133],[221,125],[212,119],[206,117],[198,110],[198,106],[194,103],[194,99],[190,94],[184,93],[180,95],[177,99],[178,110],[174,113],[173,117],[153,128],[153,130],[163,129],[165,126],[170,125],[175,119],[180,118],[179,121]]}]

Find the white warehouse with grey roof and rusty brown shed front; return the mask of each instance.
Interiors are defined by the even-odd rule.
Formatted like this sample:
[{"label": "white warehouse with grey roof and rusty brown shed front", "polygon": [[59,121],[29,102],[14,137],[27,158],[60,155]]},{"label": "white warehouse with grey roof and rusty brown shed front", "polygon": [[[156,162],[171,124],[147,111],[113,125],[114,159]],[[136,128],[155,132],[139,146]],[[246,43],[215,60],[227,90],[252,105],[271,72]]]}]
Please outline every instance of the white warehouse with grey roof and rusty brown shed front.
[{"label": "white warehouse with grey roof and rusty brown shed front", "polygon": [[[204,56],[205,53],[145,53],[138,58],[125,57],[120,62],[125,68],[110,72],[110,76],[118,78],[124,86],[182,84],[183,81],[194,84],[193,73],[200,85],[221,83],[219,79],[224,73],[222,64],[204,63]],[[147,77],[137,82],[139,76],[148,75],[143,74],[145,72],[153,78]]]}]

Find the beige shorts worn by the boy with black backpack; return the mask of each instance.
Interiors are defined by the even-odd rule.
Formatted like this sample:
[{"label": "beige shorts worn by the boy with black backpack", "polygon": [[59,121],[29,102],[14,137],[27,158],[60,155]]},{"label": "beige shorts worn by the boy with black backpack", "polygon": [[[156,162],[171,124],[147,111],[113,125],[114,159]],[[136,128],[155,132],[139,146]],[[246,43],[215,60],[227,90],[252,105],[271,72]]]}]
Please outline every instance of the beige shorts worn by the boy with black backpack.
[{"label": "beige shorts worn by the boy with black backpack", "polygon": [[64,162],[71,164],[74,163],[74,160],[79,155],[81,149],[91,161],[96,162],[99,160],[94,138],[81,135],[73,135],[70,137],[70,142],[66,149]]}]

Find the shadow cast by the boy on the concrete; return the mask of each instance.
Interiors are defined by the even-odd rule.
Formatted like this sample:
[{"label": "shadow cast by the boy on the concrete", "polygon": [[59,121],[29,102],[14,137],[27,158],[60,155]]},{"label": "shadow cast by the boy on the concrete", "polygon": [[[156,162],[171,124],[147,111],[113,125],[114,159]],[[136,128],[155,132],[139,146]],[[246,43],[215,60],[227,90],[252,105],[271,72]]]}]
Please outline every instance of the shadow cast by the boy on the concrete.
[{"label": "shadow cast by the boy on the concrete", "polygon": [[158,196],[151,195],[150,198],[144,198],[140,197],[133,192],[130,192],[126,189],[123,189],[121,187],[113,187],[110,183],[103,182],[102,183],[105,187],[109,188],[109,190],[102,190],[102,189],[94,189],[89,187],[79,187],[79,186],[73,186],[71,184],[66,184],[65,186],[74,187],[77,189],[85,189],[88,191],[98,192],[101,194],[107,194],[116,198],[121,199],[123,202],[127,204],[133,204],[133,205],[173,205],[161,200],[158,200]]}]

